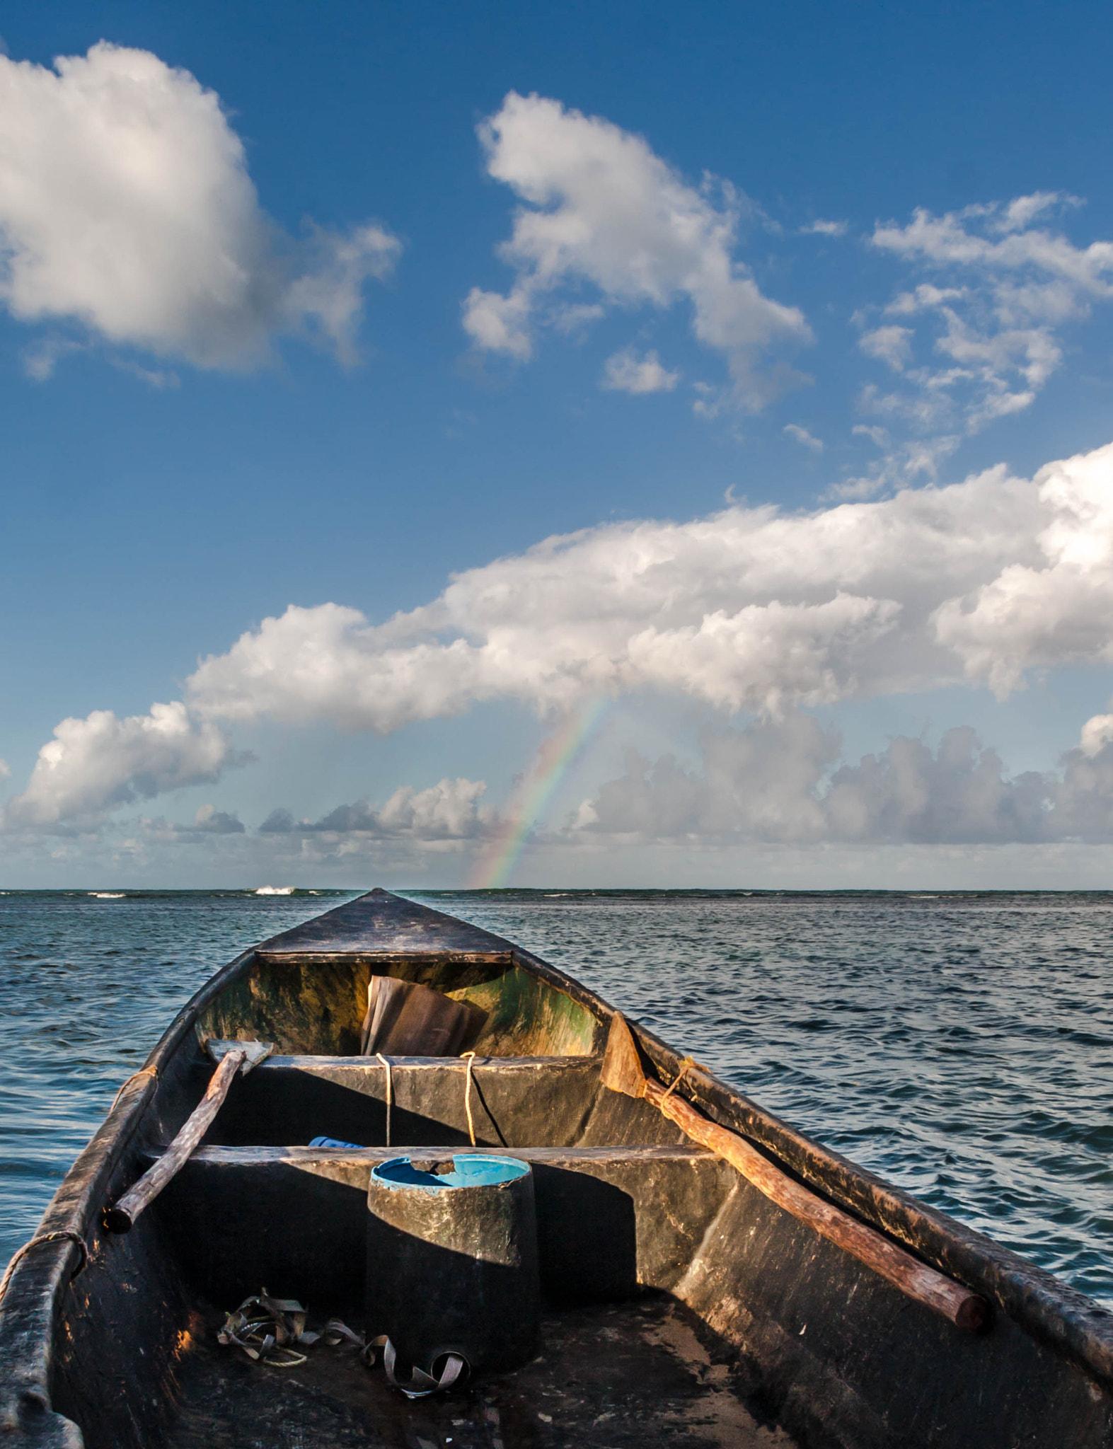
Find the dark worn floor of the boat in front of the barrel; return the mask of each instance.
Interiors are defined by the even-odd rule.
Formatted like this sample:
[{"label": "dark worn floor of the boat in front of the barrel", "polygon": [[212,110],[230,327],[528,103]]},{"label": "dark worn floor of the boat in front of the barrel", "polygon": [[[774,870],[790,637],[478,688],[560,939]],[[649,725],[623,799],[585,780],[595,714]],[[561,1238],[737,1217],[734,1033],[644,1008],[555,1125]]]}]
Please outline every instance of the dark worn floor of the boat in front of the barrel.
[{"label": "dark worn floor of the boat in front of the barrel", "polygon": [[[216,1345],[199,1313],[178,1361],[180,1411],[167,1449],[790,1449],[761,1426],[736,1381],[738,1352],[667,1294],[548,1306],[541,1352],[410,1401],[357,1349],[307,1350],[297,1368],[257,1365]],[[355,1324],[354,1324],[355,1326]]]}]

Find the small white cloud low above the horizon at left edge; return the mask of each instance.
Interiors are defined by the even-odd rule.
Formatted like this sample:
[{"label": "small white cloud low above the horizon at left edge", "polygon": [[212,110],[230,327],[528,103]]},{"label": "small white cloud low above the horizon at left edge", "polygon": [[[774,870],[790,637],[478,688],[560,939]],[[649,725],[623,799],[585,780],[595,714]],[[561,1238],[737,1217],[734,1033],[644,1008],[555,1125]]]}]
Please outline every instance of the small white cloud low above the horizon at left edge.
[{"label": "small white cloud low above the horizon at left edge", "polygon": [[3,824],[9,830],[96,824],[119,806],[214,781],[236,762],[223,730],[193,719],[180,701],[152,704],[149,714],[126,719],[94,710],[55,727],[28,788],[4,807]]}]

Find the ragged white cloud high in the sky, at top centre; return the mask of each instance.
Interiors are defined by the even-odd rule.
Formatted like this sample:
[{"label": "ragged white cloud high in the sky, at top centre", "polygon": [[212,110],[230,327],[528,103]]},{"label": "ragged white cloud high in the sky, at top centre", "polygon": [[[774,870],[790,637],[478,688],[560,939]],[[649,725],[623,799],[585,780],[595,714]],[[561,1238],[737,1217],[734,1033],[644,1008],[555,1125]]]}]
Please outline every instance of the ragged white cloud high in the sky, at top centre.
[{"label": "ragged white cloud high in the sky, at top centre", "polygon": [[[790,380],[759,362],[812,339],[799,307],[765,297],[733,252],[742,197],[688,185],[649,145],[599,116],[512,91],[480,126],[487,171],[523,203],[500,248],[509,293],[472,288],[464,326],[477,346],[525,361],[541,325],[561,326],[559,288],[594,287],[606,306],[685,298],[696,338],[726,359],[732,396],[759,407]],[[559,301],[559,298],[556,298]]]}]

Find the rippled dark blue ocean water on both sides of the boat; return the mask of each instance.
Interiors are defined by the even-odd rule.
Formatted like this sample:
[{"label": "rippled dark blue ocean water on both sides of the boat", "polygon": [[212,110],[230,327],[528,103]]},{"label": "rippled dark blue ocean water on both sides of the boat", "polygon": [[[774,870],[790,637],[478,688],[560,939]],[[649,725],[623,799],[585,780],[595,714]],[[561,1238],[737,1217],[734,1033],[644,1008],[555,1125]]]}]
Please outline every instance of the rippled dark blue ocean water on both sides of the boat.
[{"label": "rippled dark blue ocean water on both sides of the boat", "polygon": [[[349,894],[0,894],[0,1258],[197,985]],[[407,894],[1113,1307],[1113,894]]]}]

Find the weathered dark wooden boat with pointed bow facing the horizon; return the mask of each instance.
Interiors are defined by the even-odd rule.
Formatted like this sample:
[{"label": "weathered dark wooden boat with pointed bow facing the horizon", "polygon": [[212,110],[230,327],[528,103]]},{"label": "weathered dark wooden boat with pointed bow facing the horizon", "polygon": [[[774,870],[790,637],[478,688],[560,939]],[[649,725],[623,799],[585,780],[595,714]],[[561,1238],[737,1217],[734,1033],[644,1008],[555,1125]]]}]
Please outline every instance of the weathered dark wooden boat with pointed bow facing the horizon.
[{"label": "weathered dark wooden boat with pointed bow facing the horizon", "polygon": [[[465,1007],[475,1055],[357,1055],[384,978]],[[277,1055],[112,1232],[212,1094],[216,1040]],[[355,1348],[281,1368],[217,1342],[264,1288],[378,1332],[371,1172],[472,1136],[532,1169],[536,1356],[409,1400]],[[17,1255],[0,1378],[19,1449],[1113,1445],[1113,1316],[529,952],[384,891],[246,951],[171,1023]]]}]

